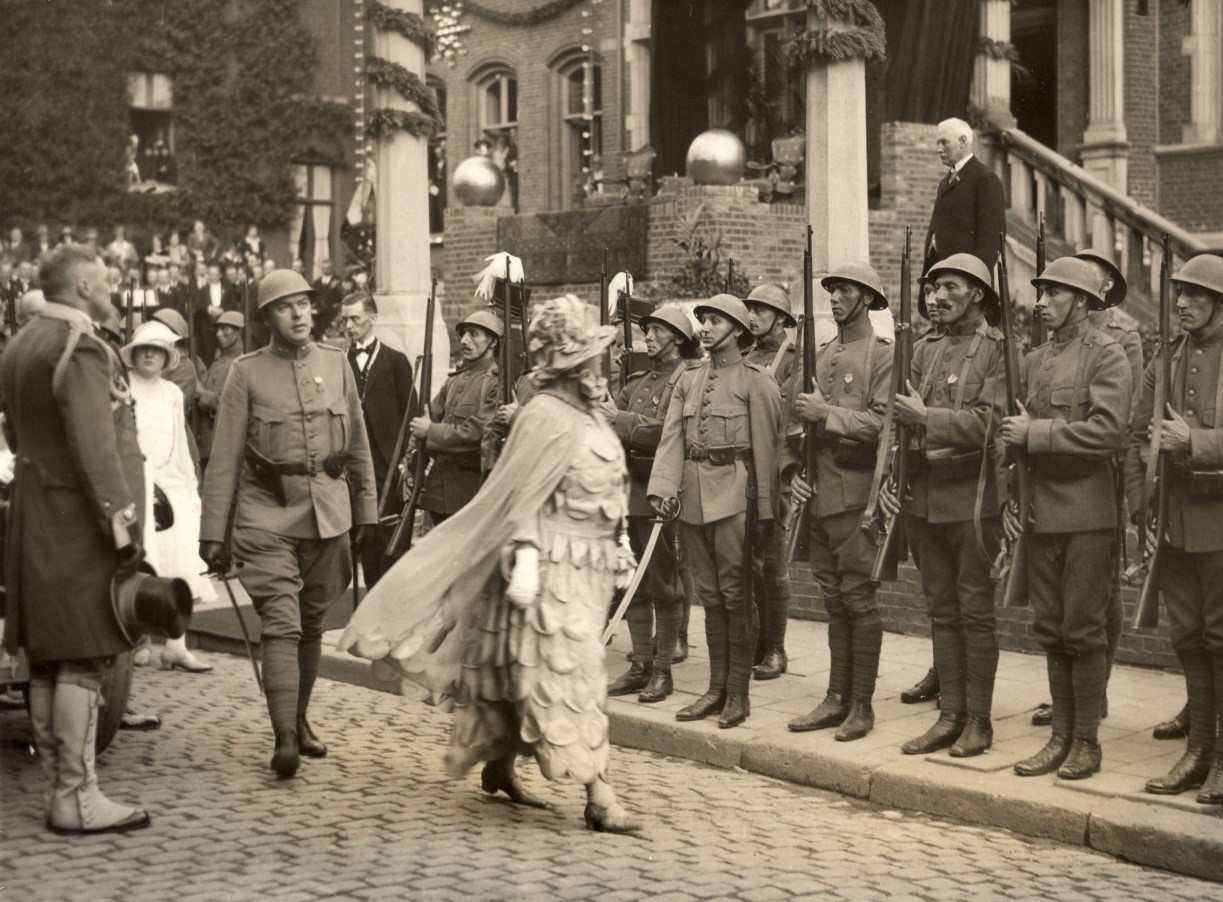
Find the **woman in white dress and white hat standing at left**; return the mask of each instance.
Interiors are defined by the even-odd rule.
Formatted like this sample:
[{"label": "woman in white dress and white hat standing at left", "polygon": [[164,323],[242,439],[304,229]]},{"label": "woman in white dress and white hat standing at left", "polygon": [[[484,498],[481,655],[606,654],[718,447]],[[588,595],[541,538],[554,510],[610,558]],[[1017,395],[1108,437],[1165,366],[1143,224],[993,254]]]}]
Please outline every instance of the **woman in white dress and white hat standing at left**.
[{"label": "woman in white dress and white hat standing at left", "polygon": [[[182,391],[161,378],[164,370],[179,364],[176,340],[177,335],[168,325],[150,320],[141,324],[121,353],[136,401],[136,440],[144,455],[146,557],[159,574],[186,579],[198,604],[215,600],[216,592],[207,577],[201,576],[208,565],[199,557],[199,486],[187,446]],[[174,515],[172,526],[157,532],[154,484],[165,493]],[[161,666],[190,673],[213,669],[187,649],[186,637],[166,639]]]}]

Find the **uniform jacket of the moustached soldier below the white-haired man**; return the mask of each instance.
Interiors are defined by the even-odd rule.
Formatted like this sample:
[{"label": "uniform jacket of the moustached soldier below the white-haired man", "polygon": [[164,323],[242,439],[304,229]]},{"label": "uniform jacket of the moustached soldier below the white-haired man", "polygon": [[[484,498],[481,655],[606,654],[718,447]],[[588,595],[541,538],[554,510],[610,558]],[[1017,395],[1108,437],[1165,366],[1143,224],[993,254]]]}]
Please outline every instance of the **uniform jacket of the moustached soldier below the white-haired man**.
[{"label": "uniform jacket of the moustached soldier below the white-haired man", "polygon": [[[931,523],[974,518],[987,436],[1005,413],[1002,332],[982,317],[927,332],[914,347],[910,381],[926,403],[926,425],[916,430],[910,451],[905,512]],[[931,452],[933,456],[931,456]],[[959,463],[928,466],[950,452]],[[989,451],[992,455],[992,449]],[[975,460],[974,460],[975,458]],[[992,461],[985,466],[982,513],[998,512],[998,480]]]}]

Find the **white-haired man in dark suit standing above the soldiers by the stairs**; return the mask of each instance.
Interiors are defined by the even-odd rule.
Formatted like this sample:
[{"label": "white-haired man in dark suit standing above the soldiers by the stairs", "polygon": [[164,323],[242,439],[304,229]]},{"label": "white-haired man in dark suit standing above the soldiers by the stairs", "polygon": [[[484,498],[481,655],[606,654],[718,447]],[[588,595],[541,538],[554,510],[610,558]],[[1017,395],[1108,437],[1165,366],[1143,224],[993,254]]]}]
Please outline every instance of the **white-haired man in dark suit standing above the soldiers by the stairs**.
[{"label": "white-haired man in dark suit standing above the soldiers by the stairs", "polygon": [[922,271],[961,253],[972,254],[992,270],[1007,226],[1002,181],[972,154],[972,128],[964,120],[939,122],[937,147],[948,172],[934,197]]}]

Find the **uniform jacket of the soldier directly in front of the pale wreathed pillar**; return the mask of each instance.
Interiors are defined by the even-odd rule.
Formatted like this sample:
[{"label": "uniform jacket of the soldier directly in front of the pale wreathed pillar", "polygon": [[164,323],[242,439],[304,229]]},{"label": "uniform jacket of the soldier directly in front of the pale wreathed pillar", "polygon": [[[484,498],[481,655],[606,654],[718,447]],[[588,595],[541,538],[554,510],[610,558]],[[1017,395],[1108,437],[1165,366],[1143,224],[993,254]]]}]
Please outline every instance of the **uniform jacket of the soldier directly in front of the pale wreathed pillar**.
[{"label": "uniform jacket of the soldier directly in front of the pale wreathed pillar", "polygon": [[[817,455],[816,496],[808,510],[816,517],[832,517],[845,511],[866,507],[871,494],[873,467],[848,468],[835,462],[838,439],[877,446],[883,416],[892,386],[892,358],[895,351],[890,339],[874,334],[865,313],[843,326],[838,336],[816,353],[816,385],[832,405],[828,420],[821,427],[821,449]],[[801,386],[788,392],[797,397]],[[802,435],[810,424],[791,407],[786,428],[786,446],[780,456],[779,471],[793,472],[799,463]]]}]

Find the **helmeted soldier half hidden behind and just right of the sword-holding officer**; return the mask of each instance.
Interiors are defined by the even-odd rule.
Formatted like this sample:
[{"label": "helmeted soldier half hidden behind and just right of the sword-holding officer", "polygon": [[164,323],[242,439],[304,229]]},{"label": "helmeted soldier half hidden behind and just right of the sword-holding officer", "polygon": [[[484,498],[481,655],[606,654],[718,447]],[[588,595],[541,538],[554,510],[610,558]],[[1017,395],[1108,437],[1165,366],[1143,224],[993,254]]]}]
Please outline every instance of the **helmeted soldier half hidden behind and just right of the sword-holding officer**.
[{"label": "helmeted soldier half hidden behind and just right of the sword-holding officer", "polygon": [[[797,325],[790,313],[790,296],[779,285],[757,285],[744,301],[756,343],[747,352],[747,359],[777,380],[778,387],[786,385],[795,372],[796,353],[794,341],[785,331]],[[779,436],[780,439],[780,436]],[[785,533],[777,523],[785,522],[789,499],[778,493],[777,519],[761,533],[756,549],[756,598],[761,615],[759,638],[756,643],[756,666],[752,676],[757,680],[777,680],[785,673],[785,627],[790,617],[790,567],[785,557]]]}]

